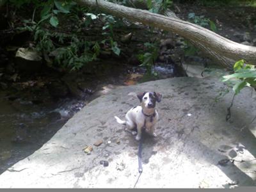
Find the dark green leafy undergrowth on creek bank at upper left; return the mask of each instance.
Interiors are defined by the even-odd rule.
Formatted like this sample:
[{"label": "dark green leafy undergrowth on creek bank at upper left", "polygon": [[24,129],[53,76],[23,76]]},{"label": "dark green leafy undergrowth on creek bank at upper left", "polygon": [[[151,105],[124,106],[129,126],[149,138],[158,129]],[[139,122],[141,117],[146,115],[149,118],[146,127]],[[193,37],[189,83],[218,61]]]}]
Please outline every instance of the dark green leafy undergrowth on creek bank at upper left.
[{"label": "dark green leafy undergrowth on creek bank at upper left", "polygon": [[[81,7],[72,0],[10,0],[13,6],[22,8],[29,6],[34,8],[37,17],[22,20],[20,31],[31,31],[34,36],[34,44],[38,51],[42,52],[48,65],[62,67],[69,70],[77,70],[86,63],[97,60],[101,46],[110,47],[120,55],[121,49],[115,41],[113,28],[116,19],[112,15],[97,13]],[[23,7],[24,8],[24,7]],[[63,30],[65,19],[73,20],[77,30]],[[88,40],[83,35],[83,30],[93,29],[94,24],[102,24],[102,35],[105,39]],[[63,31],[63,32],[59,32]],[[71,33],[70,33],[71,32]],[[102,37],[101,37],[102,38]],[[53,60],[52,60],[53,58]]]}]

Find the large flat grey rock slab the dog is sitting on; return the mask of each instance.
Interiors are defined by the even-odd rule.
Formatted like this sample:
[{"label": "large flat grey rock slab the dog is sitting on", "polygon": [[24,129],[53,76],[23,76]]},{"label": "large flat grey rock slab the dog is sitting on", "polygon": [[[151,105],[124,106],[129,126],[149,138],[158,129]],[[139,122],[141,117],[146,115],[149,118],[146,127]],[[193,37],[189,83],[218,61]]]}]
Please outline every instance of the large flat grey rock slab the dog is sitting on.
[{"label": "large flat grey rock slab the dog is sitting on", "polygon": [[[255,122],[241,131],[256,115],[251,90],[237,95],[226,122],[233,93],[218,99],[226,90],[223,83],[180,77],[117,88],[93,100],[42,148],[1,174],[0,187],[133,188],[139,175],[138,141],[113,116],[124,118],[139,104],[129,93],[145,90],[162,93],[163,100],[157,105],[158,137],[143,141],[143,173],[136,188],[255,186]],[[95,147],[100,139],[102,145]],[[83,152],[86,145],[93,146],[92,154]],[[222,159],[234,161],[218,163]]]}]

